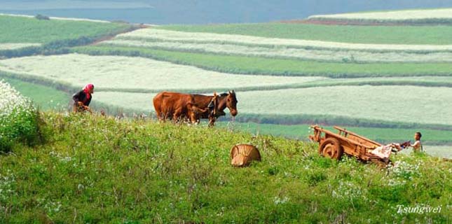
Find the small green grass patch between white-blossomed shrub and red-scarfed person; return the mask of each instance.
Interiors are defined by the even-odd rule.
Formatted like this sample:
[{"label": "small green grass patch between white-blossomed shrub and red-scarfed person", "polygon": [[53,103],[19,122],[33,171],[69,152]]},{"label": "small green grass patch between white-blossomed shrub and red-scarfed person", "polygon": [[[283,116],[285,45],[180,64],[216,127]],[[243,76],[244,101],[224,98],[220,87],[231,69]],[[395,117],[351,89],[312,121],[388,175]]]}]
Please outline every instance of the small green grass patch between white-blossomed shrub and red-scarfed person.
[{"label": "small green grass patch between white-blossomed shrub and red-scarfed person", "polygon": [[62,109],[69,105],[71,97],[66,92],[55,90],[53,87],[46,85],[39,85],[36,83],[28,83],[15,78],[1,78],[10,83],[15,90],[18,90],[22,95],[32,99],[36,106],[41,110]]}]

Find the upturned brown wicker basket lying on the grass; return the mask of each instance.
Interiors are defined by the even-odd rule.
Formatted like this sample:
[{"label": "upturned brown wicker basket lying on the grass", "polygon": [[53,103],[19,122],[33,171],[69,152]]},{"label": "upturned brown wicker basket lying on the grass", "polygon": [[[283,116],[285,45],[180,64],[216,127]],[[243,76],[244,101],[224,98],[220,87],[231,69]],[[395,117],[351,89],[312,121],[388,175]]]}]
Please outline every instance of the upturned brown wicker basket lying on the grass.
[{"label": "upturned brown wicker basket lying on the grass", "polygon": [[245,167],[253,160],[261,161],[261,153],[256,146],[238,144],[231,148],[231,165],[234,167]]}]

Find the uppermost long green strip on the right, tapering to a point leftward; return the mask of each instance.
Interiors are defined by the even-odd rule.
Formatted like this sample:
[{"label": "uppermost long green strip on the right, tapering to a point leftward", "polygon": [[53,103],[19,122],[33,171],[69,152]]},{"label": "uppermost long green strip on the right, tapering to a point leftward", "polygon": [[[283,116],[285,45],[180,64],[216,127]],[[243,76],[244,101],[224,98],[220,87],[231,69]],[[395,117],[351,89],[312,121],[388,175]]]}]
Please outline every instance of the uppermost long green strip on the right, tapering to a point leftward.
[{"label": "uppermost long green strip on the right, tapering to a point leftward", "polygon": [[296,38],[344,43],[451,44],[451,26],[343,26],[309,24],[167,25],[156,29]]}]

